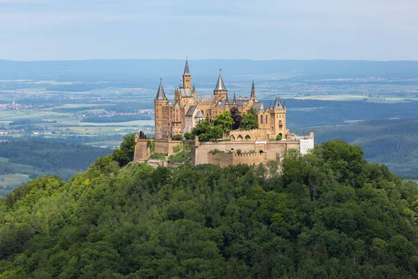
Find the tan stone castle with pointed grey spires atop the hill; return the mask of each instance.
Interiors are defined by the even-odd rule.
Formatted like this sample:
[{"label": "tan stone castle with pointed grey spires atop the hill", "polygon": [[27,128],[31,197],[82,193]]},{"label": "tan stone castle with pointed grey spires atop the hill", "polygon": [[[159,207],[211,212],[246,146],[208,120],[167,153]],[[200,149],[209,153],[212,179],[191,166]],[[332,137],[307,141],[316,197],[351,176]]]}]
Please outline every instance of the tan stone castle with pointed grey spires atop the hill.
[{"label": "tan stone castle with pointed grey spires atop the hill", "polygon": [[[147,160],[151,153],[167,153],[171,156],[180,150],[179,146],[183,150],[184,142],[172,140],[174,136],[190,133],[202,119],[211,122],[217,115],[233,107],[236,107],[241,115],[250,109],[254,110],[258,119],[258,129],[232,130],[224,135],[222,141],[215,142],[200,142],[199,137],[196,137],[191,147],[194,165],[206,163],[221,166],[239,163],[252,165],[266,163],[268,160],[280,161],[281,155],[288,149],[298,149],[301,153],[306,153],[314,148],[313,132],[299,137],[291,134],[286,128],[285,102],[281,103],[280,98],[276,98],[274,103],[266,107],[263,102],[257,100],[254,80],[249,98],[241,96],[237,98],[235,93],[233,98],[229,98],[219,71],[213,94],[197,95],[195,86],[192,86],[192,75],[187,59],[183,80],[174,91],[174,100],[167,99],[160,81],[154,105],[155,138],[146,140],[136,134],[135,162]],[[278,135],[281,140],[275,141]],[[153,150],[150,149],[150,142]],[[218,152],[211,152],[213,150]]]}]

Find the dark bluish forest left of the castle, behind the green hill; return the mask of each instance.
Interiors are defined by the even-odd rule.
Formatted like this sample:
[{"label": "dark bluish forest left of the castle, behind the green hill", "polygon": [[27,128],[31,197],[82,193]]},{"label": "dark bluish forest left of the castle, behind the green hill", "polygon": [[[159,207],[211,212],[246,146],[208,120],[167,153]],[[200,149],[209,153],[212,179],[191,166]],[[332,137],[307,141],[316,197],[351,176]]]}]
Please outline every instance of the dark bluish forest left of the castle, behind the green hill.
[{"label": "dark bluish forest left of the castle, behind the green hill", "polygon": [[28,174],[31,178],[58,174],[63,179],[82,172],[96,158],[111,153],[111,149],[82,144],[62,144],[43,141],[0,142],[0,174]]}]

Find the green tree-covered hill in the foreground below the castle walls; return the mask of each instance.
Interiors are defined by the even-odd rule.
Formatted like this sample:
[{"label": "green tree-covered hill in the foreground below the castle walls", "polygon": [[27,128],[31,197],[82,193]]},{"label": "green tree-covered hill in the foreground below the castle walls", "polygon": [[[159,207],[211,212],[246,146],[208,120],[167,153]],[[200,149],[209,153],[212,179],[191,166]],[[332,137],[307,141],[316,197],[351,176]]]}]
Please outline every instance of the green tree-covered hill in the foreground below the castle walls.
[{"label": "green tree-covered hill in the foreground below the castle walls", "polygon": [[417,183],[341,141],[274,169],[107,156],[36,179],[0,199],[0,277],[418,277]]}]

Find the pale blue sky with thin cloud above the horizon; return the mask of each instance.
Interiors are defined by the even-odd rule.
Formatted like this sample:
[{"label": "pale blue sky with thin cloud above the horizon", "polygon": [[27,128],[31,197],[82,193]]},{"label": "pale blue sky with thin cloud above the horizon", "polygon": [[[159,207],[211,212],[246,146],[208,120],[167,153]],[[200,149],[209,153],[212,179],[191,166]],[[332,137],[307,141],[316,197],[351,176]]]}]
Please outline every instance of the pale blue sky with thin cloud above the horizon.
[{"label": "pale blue sky with thin cloud above the horizon", "polygon": [[0,59],[418,60],[417,0],[0,0]]}]

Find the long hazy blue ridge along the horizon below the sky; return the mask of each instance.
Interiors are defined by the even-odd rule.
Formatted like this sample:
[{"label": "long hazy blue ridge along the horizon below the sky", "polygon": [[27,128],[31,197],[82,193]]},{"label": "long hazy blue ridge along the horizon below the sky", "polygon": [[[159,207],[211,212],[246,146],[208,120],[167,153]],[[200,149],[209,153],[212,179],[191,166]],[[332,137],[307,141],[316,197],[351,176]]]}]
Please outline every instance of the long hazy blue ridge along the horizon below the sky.
[{"label": "long hazy blue ridge along the horizon below the sky", "polygon": [[[72,82],[131,82],[155,84],[162,77],[178,82],[184,60],[125,59],[86,61],[0,60],[0,80],[59,80]],[[219,68],[225,80],[317,80],[335,78],[411,79],[418,61],[291,61],[191,60],[194,81],[213,82]]]}]

